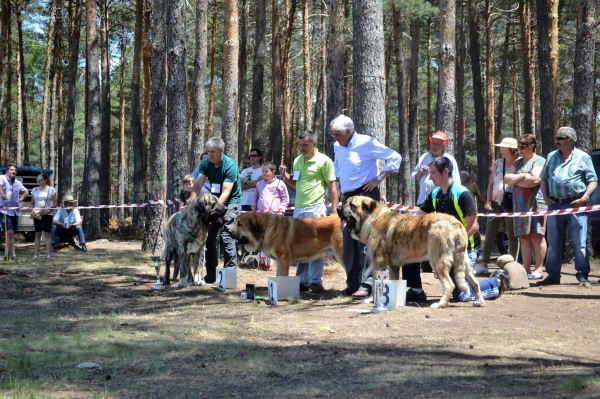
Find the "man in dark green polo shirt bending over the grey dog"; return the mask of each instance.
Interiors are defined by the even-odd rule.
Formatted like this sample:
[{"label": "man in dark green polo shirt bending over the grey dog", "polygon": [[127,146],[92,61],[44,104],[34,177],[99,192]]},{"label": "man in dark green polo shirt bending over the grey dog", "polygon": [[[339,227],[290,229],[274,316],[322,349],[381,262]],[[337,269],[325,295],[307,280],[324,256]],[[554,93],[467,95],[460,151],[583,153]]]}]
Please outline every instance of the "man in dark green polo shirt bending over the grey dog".
[{"label": "man in dark green polo shirt bending over the grey dog", "polygon": [[218,264],[217,234],[221,230],[221,247],[225,249],[224,266],[234,268],[237,261],[235,240],[231,238],[229,229],[242,208],[242,184],[239,167],[233,158],[223,154],[225,142],[219,137],[211,137],[206,142],[208,158],[198,166],[200,174],[192,187],[190,201],[200,194],[204,182],[210,182],[210,192],[219,198],[219,202],[227,207],[227,213],[221,221],[211,223],[206,238],[206,277],[204,281],[214,283]]}]

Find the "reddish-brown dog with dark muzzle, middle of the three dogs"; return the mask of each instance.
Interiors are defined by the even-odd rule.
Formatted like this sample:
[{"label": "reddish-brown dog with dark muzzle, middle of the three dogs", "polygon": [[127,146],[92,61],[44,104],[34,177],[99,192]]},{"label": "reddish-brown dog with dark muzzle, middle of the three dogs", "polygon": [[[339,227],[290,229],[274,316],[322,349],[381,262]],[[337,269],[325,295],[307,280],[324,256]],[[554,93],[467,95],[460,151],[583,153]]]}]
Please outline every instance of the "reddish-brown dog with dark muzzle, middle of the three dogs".
[{"label": "reddish-brown dog with dark muzzle, middle of the three dogs", "polygon": [[344,264],[344,243],[336,215],[294,219],[249,212],[235,219],[231,236],[247,250],[263,251],[267,257],[276,259],[278,276],[287,276],[292,263],[310,262],[327,255]]}]

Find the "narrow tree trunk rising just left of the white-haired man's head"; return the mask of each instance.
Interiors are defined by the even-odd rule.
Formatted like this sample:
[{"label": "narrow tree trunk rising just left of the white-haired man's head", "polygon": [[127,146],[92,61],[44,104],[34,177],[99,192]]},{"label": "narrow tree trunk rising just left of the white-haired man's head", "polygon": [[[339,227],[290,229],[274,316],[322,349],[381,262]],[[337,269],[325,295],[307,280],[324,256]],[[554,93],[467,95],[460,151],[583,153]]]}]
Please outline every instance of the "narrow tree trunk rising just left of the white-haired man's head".
[{"label": "narrow tree trunk rising just left of the white-haired man's head", "polygon": [[[333,139],[329,124],[343,110],[344,98],[344,1],[329,0],[329,52],[327,56],[327,117],[323,129],[325,154],[333,157]],[[363,133],[363,132],[361,132]]]}]

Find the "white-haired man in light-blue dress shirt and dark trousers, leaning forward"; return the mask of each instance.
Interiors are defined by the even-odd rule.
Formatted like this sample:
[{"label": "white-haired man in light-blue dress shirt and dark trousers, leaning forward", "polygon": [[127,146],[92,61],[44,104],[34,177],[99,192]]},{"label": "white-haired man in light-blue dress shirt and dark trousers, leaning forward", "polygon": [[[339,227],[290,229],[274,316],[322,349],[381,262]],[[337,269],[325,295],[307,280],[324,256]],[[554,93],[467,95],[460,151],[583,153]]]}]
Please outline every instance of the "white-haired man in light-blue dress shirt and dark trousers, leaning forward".
[{"label": "white-haired man in light-blue dress shirt and dark trousers, leaning forward", "polygon": [[[379,185],[392,173],[398,173],[402,157],[386,147],[375,137],[354,131],[352,119],[339,115],[329,125],[336,140],[333,145],[335,160],[333,166],[340,179],[343,206],[350,197],[364,195],[380,200]],[[379,172],[378,161],[385,165]],[[346,288],[343,295],[355,299],[367,298],[373,289],[373,261],[366,245],[352,238],[348,229],[343,229],[344,263],[346,267]]]}]

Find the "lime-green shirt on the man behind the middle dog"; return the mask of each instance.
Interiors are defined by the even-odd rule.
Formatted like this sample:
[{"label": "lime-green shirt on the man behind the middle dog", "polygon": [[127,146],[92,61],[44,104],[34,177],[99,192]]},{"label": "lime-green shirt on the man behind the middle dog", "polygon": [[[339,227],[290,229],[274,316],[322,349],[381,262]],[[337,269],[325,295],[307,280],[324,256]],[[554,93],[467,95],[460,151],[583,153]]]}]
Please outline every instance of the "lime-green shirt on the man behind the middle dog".
[{"label": "lime-green shirt on the man behind the middle dog", "polygon": [[297,170],[300,171],[300,178],[296,181],[295,206],[302,208],[323,203],[327,182],[335,181],[331,158],[317,152],[305,162],[304,155],[300,155],[294,160],[294,173]]}]

